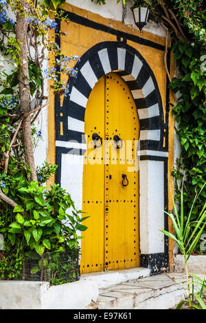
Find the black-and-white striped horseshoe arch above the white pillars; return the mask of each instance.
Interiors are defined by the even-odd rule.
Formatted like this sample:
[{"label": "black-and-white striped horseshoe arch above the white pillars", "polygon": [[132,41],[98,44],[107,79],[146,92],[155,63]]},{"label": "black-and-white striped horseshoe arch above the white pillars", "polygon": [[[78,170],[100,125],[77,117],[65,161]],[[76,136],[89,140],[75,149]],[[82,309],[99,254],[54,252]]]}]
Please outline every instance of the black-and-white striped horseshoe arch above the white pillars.
[{"label": "black-and-white striped horseshoe arch above the white pillars", "polygon": [[[165,125],[157,80],[146,60],[126,43],[104,42],[89,49],[76,65],[78,77],[70,82],[70,96],[60,107],[56,98],[56,147],[61,153],[76,148],[82,154],[84,113],[89,95],[98,80],[115,71],[127,83],[135,100],[140,122],[140,155],[166,157]],[[63,135],[60,135],[60,122]]]}]

